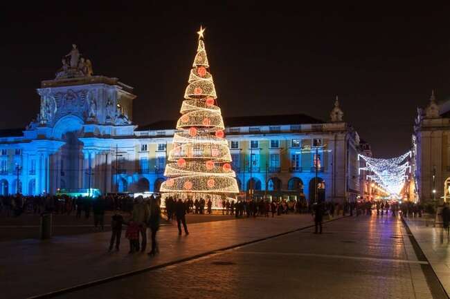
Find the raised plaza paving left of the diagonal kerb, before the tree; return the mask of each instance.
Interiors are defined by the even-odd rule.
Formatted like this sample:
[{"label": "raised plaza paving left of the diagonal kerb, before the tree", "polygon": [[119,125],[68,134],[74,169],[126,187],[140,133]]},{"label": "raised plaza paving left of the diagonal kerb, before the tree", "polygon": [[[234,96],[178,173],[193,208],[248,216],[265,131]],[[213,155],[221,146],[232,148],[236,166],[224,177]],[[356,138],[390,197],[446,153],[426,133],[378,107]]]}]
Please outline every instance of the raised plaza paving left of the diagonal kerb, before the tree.
[{"label": "raised plaza paving left of the diagonal kerb, before the tree", "polygon": [[163,254],[152,259],[145,253],[127,254],[125,231],[120,251],[111,253],[107,252],[109,232],[56,236],[44,242],[32,239],[0,242],[0,298],[36,296],[177,262],[311,224],[311,215],[188,223],[190,235],[182,236],[178,235],[176,225],[163,226],[158,233]]}]

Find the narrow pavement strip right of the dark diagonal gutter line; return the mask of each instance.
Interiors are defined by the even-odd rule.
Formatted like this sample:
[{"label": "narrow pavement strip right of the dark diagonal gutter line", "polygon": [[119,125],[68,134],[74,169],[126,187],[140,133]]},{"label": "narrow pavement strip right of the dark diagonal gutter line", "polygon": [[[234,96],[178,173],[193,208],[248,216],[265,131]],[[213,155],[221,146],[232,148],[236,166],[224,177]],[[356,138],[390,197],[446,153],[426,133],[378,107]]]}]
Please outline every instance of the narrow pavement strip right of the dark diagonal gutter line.
[{"label": "narrow pavement strip right of the dark diagonal gutter line", "polygon": [[450,236],[442,227],[433,227],[433,220],[405,218],[411,233],[429,260],[442,287],[450,294]]}]

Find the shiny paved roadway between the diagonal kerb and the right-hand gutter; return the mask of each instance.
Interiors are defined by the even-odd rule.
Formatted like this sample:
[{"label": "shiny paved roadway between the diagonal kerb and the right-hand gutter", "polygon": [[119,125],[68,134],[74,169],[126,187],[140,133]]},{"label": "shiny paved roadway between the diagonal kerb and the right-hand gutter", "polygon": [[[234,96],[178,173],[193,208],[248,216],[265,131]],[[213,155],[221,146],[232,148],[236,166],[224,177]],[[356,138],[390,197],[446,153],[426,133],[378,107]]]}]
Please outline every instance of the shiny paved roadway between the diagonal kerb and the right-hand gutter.
[{"label": "shiny paved roadway between the diagonal kerb and the right-hand gutter", "polygon": [[[359,216],[66,293],[60,298],[439,298],[402,223]],[[161,255],[165,253],[162,251]]]}]

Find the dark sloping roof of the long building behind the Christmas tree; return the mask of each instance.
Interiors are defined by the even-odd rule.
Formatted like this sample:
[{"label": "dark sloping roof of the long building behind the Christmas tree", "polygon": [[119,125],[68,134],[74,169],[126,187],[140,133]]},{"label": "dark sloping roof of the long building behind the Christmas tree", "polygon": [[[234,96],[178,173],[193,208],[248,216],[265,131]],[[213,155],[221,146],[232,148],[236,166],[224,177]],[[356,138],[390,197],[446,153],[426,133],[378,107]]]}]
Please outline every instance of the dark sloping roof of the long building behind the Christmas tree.
[{"label": "dark sloping roof of the long building behind the Christmas tree", "polygon": [[[253,115],[239,117],[224,117],[227,127],[234,126],[280,126],[286,124],[323,124],[321,119],[316,119],[303,113],[291,115]],[[167,130],[177,126],[176,120],[161,120],[145,126],[138,126],[136,131]]]}]

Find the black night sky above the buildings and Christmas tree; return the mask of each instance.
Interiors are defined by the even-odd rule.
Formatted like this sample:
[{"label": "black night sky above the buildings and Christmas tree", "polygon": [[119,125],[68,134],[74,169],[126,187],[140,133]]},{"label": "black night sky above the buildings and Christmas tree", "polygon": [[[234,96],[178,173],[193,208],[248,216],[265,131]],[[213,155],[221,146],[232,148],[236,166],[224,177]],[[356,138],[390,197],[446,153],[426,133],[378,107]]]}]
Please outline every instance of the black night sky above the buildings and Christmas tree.
[{"label": "black night sky above the buildings and Christmas tree", "polygon": [[135,88],[136,124],[175,119],[200,24],[225,116],[327,120],[339,95],[345,121],[375,156],[391,157],[411,146],[416,107],[426,106],[431,89],[440,100],[450,95],[448,6],[147,2],[3,9],[0,128],[35,117],[35,88],[55,77],[71,44],[91,59],[94,75]]}]

